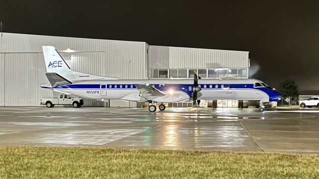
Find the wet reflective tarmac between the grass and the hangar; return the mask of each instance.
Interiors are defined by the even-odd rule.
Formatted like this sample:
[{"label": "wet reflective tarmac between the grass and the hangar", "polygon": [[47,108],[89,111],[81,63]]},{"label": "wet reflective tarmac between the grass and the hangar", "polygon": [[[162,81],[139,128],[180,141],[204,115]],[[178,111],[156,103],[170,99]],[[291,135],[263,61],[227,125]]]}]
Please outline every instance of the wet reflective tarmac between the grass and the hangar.
[{"label": "wet reflective tarmac between the grass and the hangar", "polygon": [[319,110],[0,107],[0,145],[319,154]]}]

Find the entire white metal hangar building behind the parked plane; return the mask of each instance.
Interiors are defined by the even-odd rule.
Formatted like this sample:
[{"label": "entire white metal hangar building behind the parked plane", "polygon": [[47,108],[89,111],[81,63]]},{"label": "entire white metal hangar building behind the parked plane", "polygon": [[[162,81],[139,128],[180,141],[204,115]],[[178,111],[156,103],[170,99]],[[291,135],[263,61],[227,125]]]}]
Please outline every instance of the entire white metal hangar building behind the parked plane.
[{"label": "entire white metal hangar building behind the parked plane", "polygon": [[[55,46],[72,70],[120,79],[233,76],[248,78],[249,52],[149,45],[146,42],[0,34],[0,106],[39,106],[41,97],[58,93],[42,89],[48,80],[43,45]],[[136,107],[122,100],[85,99],[85,106]],[[209,106],[209,101],[201,106]],[[238,107],[236,100],[218,100],[219,107]],[[171,103],[170,106],[191,106]]]}]

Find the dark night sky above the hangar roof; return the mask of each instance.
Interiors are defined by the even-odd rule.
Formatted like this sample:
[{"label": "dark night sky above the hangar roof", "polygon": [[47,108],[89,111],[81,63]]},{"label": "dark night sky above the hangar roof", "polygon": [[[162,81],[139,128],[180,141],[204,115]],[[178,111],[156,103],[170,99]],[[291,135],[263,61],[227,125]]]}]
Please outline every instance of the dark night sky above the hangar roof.
[{"label": "dark night sky above the hangar roof", "polygon": [[4,32],[250,51],[253,78],[319,90],[318,0],[2,0]]}]

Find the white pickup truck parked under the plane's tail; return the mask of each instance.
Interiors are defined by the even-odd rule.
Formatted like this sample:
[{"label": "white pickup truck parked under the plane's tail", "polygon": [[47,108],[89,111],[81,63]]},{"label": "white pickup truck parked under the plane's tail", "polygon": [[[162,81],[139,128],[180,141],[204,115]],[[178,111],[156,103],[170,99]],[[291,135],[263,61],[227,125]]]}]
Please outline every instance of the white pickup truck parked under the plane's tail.
[{"label": "white pickup truck parked under the plane's tail", "polygon": [[45,105],[48,108],[53,108],[54,105],[72,105],[79,108],[84,104],[83,98],[72,98],[70,95],[61,94],[58,98],[46,97],[41,98],[40,105]]}]

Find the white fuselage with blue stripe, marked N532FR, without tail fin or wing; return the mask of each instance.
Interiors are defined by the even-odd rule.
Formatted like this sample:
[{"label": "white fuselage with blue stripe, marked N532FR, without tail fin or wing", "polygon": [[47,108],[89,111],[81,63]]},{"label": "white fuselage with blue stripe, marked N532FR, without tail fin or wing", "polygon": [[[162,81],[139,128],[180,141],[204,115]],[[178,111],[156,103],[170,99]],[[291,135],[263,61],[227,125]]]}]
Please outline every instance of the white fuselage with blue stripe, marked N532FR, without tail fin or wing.
[{"label": "white fuselage with blue stripe, marked N532FR, without tail fin or wing", "polygon": [[[201,91],[199,100],[261,100],[271,101],[274,96],[270,89],[254,87],[261,81],[255,79],[202,79],[198,80]],[[121,99],[128,101],[146,101],[135,84],[150,84],[166,93],[165,96],[153,98],[156,102],[187,101],[191,98],[193,80],[89,80],[73,82],[71,85],[57,86],[58,92],[69,93],[90,99]],[[278,96],[278,95],[277,95]]]}]

